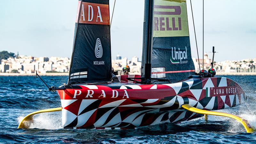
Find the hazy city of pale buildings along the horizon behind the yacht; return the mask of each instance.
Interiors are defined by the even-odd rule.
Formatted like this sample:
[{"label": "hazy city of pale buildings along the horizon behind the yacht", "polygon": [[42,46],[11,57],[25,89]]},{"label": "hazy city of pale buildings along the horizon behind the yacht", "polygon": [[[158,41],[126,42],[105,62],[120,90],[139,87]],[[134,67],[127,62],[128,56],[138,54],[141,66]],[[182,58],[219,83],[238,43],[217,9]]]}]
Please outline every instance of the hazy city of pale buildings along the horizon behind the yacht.
[{"label": "hazy city of pale buildings along the horizon behind the yacht", "polygon": [[[196,72],[199,72],[198,62],[200,63],[201,69],[203,66],[203,59],[192,58]],[[69,58],[61,57],[32,57],[20,55],[14,58],[8,58],[7,60],[1,60],[0,72],[1,73],[22,73],[31,74],[35,73],[47,73],[47,72],[68,72],[70,68],[71,60]],[[208,70],[211,68],[212,60],[208,58],[207,53],[204,54],[204,69]],[[112,67],[116,71],[122,71],[125,65],[129,65],[131,73],[140,74],[141,72],[141,61],[138,57],[132,57],[132,60],[122,58],[120,55],[116,56],[116,60],[111,60]],[[226,73],[256,73],[256,58],[244,59],[241,61],[222,61],[215,62],[213,64],[216,71]]]}]

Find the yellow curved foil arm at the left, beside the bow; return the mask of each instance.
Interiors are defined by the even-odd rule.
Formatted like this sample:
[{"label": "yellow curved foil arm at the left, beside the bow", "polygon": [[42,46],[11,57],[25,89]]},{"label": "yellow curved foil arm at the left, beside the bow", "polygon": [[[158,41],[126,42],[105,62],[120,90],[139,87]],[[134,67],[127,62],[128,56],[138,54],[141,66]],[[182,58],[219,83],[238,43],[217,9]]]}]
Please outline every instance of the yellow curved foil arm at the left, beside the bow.
[{"label": "yellow curved foil arm at the left, beside the bow", "polygon": [[33,116],[40,114],[40,113],[54,112],[54,111],[61,111],[61,107],[60,108],[43,109],[43,110],[38,110],[33,113],[30,113],[22,119],[18,128],[29,128],[30,124],[33,123]]}]

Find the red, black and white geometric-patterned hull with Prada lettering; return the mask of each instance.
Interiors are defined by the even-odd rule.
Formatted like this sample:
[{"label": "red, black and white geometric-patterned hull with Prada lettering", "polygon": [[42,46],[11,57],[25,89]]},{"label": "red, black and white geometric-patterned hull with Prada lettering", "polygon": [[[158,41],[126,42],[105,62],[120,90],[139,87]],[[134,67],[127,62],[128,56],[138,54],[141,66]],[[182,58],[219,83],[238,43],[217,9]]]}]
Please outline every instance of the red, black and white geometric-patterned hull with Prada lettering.
[{"label": "red, black and white geometric-patterned hull with Prada lettering", "polygon": [[64,128],[127,129],[181,123],[203,116],[184,110],[189,104],[219,110],[242,104],[243,89],[225,77],[191,78],[173,84],[86,84],[58,90]]}]

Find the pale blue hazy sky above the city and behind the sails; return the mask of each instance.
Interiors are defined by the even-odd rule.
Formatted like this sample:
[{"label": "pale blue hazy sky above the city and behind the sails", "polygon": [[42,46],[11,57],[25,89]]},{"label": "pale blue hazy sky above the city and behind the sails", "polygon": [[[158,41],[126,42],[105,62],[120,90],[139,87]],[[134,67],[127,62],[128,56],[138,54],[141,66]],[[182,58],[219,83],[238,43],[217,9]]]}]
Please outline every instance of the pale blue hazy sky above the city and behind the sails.
[{"label": "pale blue hazy sky above the city and behind the sails", "polygon": [[[77,0],[0,0],[0,51],[20,55],[71,57]],[[110,0],[112,15],[114,0]],[[199,57],[202,58],[202,0],[192,0]],[[192,57],[197,57],[190,2]],[[112,59],[141,60],[143,0],[116,0],[111,26]],[[215,61],[256,57],[256,0],[204,1],[204,52]],[[211,53],[208,53],[212,57]]]}]

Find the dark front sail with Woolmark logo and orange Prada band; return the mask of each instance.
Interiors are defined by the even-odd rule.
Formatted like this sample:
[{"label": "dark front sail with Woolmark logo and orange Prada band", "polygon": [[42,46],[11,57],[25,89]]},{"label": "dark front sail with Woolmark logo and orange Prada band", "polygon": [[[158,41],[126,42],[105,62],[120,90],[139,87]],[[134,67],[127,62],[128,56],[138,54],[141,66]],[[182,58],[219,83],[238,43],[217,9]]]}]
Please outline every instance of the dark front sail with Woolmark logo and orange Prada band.
[{"label": "dark front sail with Woolmark logo and orange Prada band", "polygon": [[109,0],[79,0],[68,84],[111,76]]}]

